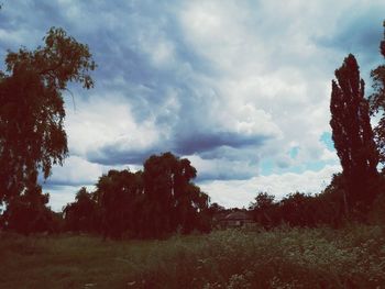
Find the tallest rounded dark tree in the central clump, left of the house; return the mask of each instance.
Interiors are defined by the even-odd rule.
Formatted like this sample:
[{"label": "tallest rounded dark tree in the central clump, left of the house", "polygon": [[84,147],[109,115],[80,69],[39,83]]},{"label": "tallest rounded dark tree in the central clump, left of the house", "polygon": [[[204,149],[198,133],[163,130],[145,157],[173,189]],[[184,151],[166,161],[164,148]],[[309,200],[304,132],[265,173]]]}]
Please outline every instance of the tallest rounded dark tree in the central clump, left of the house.
[{"label": "tallest rounded dark tree in the central clump, left of the house", "polygon": [[161,236],[178,227],[188,233],[197,227],[198,213],[206,212],[209,198],[190,182],[196,174],[188,159],[179,159],[172,153],[153,155],[144,163],[144,219],[150,236]]}]

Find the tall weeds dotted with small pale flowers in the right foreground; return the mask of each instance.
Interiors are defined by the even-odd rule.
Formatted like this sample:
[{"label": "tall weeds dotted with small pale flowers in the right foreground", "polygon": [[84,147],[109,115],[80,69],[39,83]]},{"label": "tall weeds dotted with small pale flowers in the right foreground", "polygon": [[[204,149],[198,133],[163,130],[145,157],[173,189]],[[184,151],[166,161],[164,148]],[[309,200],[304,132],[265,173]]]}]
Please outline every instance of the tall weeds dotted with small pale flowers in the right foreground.
[{"label": "tall weeds dotted with small pale flowers in the right foreground", "polygon": [[[378,288],[385,284],[380,226],[222,231],[179,249],[141,276],[143,288]],[[162,285],[162,286],[161,286]]]}]

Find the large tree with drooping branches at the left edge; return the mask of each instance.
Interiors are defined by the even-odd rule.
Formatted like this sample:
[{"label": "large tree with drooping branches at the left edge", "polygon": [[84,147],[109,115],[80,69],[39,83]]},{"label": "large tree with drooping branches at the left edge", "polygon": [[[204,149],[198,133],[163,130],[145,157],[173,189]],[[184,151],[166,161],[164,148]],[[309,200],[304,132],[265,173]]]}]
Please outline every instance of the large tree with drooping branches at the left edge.
[{"label": "large tree with drooping branches at the left edge", "polygon": [[7,74],[0,71],[0,204],[35,187],[37,174],[46,179],[54,164],[63,164],[68,148],[62,93],[70,81],[94,86],[89,71],[96,64],[87,45],[55,27],[44,42],[33,52],[8,52]]}]

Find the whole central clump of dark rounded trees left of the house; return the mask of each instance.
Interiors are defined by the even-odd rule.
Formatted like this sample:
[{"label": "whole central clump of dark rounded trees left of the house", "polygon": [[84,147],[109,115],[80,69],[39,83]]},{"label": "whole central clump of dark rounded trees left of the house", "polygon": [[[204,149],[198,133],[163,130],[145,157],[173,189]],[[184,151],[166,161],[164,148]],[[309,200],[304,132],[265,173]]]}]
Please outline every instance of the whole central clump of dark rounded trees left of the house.
[{"label": "whole central clump of dark rounded trees left of the house", "polygon": [[162,237],[210,231],[209,198],[190,180],[196,169],[170,153],[151,156],[144,171],[110,170],[97,190],[81,189],[64,209],[66,230],[105,237]]}]

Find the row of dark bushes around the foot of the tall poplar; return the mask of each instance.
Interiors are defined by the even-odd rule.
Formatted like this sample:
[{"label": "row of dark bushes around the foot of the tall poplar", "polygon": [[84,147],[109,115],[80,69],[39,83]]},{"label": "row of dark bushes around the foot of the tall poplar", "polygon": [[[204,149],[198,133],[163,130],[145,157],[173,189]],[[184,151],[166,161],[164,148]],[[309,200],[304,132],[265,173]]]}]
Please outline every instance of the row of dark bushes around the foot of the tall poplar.
[{"label": "row of dark bushes around the foot of the tall poplar", "polygon": [[350,207],[346,202],[348,189],[344,177],[342,174],[337,174],[321,193],[295,192],[287,194],[279,201],[274,201],[274,196],[260,192],[249,209],[252,211],[255,222],[265,229],[282,224],[300,227],[329,225],[334,229],[342,227],[349,222],[384,224],[384,173],[370,184],[367,190],[377,196],[373,203],[358,202],[354,207]]}]

